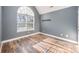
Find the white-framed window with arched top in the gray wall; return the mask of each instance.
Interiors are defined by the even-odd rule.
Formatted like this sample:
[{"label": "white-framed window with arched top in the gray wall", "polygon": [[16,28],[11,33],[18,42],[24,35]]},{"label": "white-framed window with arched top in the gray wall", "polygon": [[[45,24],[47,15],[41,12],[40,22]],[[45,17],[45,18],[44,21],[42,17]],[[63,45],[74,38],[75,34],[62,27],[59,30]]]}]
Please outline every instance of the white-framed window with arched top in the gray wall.
[{"label": "white-framed window with arched top in the gray wall", "polygon": [[29,7],[19,7],[17,10],[17,32],[34,30],[34,12]]}]

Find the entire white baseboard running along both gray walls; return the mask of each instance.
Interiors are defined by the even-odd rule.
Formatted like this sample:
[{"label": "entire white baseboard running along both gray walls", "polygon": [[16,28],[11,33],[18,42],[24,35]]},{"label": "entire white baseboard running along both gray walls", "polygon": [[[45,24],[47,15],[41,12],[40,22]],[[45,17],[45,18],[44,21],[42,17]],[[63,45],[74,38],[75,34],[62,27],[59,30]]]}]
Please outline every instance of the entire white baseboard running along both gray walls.
[{"label": "entire white baseboard running along both gray walls", "polygon": [[44,34],[44,35],[51,36],[51,37],[54,37],[54,38],[57,38],[57,39],[60,39],[60,40],[64,40],[64,41],[68,41],[68,42],[71,42],[71,43],[78,44],[78,42],[76,42],[76,41],[65,39],[65,38],[61,38],[61,37],[57,37],[57,36],[46,34],[46,33],[42,33],[42,32],[36,32],[36,33],[33,33],[33,34],[29,34],[29,35],[25,35],[25,36],[21,36],[21,37],[17,37],[17,38],[12,38],[12,39],[8,39],[8,40],[4,40],[1,43],[13,41],[13,40],[19,40],[19,39],[21,39],[23,37],[28,37],[28,36],[32,36],[32,35],[36,35],[36,34]]}]

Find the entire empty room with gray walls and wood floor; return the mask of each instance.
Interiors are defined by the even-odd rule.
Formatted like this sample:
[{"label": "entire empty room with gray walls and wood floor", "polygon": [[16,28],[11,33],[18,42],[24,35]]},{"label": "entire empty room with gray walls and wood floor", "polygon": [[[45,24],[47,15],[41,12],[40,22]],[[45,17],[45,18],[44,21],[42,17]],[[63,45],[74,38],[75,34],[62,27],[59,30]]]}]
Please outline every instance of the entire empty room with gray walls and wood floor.
[{"label": "entire empty room with gray walls and wood floor", "polygon": [[78,6],[0,6],[1,53],[78,53]]}]

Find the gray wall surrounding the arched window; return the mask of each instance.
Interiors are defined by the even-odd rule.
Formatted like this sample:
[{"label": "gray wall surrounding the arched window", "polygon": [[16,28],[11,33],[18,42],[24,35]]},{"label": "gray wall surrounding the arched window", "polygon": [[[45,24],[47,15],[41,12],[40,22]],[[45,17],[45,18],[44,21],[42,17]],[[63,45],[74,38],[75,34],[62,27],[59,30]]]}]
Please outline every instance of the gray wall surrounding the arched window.
[{"label": "gray wall surrounding the arched window", "polygon": [[2,41],[11,39],[14,37],[19,37],[27,34],[31,34],[39,31],[39,14],[35,7],[30,6],[30,8],[35,13],[35,30],[30,32],[19,32],[17,33],[16,17],[17,9],[19,6],[3,6],[2,7]]}]

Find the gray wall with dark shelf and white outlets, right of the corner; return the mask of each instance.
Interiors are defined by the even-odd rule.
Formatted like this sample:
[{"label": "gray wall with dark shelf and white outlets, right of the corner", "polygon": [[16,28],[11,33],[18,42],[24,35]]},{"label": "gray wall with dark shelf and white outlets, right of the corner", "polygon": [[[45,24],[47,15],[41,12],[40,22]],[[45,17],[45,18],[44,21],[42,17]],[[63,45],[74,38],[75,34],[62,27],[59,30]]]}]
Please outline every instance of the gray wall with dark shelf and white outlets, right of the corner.
[{"label": "gray wall with dark shelf and white outlets, right of the corner", "polygon": [[[78,8],[76,6],[41,15],[41,20],[46,19],[51,21],[41,21],[41,32],[78,41]],[[69,37],[66,37],[66,34]]]}]

